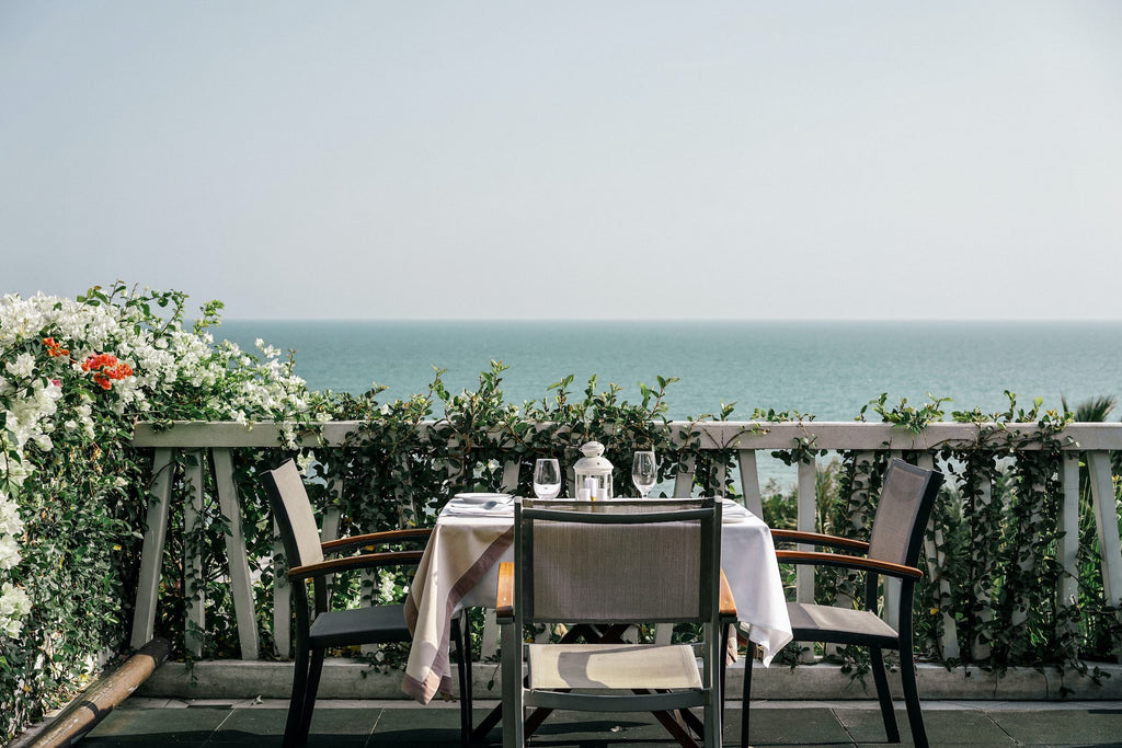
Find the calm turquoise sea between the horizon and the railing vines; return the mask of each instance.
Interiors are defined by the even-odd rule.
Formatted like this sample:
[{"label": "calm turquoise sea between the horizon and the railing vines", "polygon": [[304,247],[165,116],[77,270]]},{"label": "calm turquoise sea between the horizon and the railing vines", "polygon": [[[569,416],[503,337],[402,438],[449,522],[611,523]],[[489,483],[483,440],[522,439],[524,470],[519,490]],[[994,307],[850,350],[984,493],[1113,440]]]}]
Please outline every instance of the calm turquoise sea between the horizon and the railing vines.
[{"label": "calm turquoise sea between the horizon and the railing vines", "polygon": [[[671,418],[735,403],[733,419],[773,408],[852,421],[882,393],[891,405],[948,397],[948,414],[1004,412],[1005,390],[1026,408],[1122,395],[1122,322],[227,321],[214,334],[294,350],[312,389],[385,385],[381,401],[425,391],[433,367],[449,390],[473,389],[491,360],[509,367],[502,389],[516,405],[568,375],[576,394],[597,375],[598,390],[614,382],[633,403],[638,382],[678,377]],[[782,474],[761,465],[762,478]]]}]

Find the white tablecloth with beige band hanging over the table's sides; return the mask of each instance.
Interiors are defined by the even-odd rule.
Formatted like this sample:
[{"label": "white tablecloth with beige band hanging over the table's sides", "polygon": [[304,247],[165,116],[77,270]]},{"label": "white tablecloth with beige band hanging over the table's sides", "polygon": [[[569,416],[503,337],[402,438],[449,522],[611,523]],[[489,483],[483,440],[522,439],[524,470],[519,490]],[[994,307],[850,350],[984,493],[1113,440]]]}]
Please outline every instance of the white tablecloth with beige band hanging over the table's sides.
[{"label": "white tablecloth with beige band hanging over the table's sides", "polygon": [[[791,640],[783,583],[771,530],[741,505],[724,500],[720,558],[736,601],[736,616],[748,638],[763,649],[763,662]],[[452,694],[449,640],[452,616],[465,607],[491,608],[498,564],[514,560],[514,516],[442,515],[405,600],[413,645],[402,689],[429,703]]]}]

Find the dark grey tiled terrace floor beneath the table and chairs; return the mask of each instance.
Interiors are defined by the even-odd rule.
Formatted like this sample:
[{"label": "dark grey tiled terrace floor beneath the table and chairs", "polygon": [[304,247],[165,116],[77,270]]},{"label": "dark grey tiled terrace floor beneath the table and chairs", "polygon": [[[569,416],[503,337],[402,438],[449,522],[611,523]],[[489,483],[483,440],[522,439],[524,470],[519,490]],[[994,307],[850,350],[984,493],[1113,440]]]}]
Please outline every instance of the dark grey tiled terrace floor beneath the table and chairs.
[{"label": "dark grey tiled terrace floor beneath the table and chairs", "polygon": [[[482,702],[477,717],[494,702]],[[81,742],[111,746],[279,746],[282,701],[169,701],[130,699]],[[902,708],[902,704],[898,704]],[[1122,746],[1122,702],[940,702],[923,704],[932,746]],[[662,727],[645,715],[555,713],[531,740],[549,748],[625,746],[671,748]],[[725,745],[739,745],[739,710],[726,713]],[[904,745],[908,721],[898,710]],[[478,719],[477,719],[478,721]],[[31,736],[17,740],[27,745]],[[458,746],[456,704],[404,701],[321,701],[310,746]],[[484,744],[480,744],[484,745]],[[498,729],[487,741],[502,745]],[[758,702],[752,745],[885,746],[880,713],[864,702]]]}]

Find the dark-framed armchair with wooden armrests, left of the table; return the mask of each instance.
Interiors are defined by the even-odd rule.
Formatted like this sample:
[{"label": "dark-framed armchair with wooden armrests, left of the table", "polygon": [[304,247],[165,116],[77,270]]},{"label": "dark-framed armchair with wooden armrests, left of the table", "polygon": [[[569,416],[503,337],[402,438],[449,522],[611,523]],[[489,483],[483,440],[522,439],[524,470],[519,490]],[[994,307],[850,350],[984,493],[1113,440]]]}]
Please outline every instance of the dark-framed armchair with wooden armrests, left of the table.
[{"label": "dark-framed armchair with wooden armrests, left of the table", "polygon": [[[304,488],[296,463],[288,460],[276,470],[261,474],[261,482],[273,505],[280,539],[288,561],[288,581],[293,589],[296,610],[296,667],[293,674],[292,700],[285,724],[284,746],[307,742],[315,693],[323,669],[324,650],[364,644],[411,641],[412,634],[405,624],[403,606],[374,606],[349,610],[329,610],[327,578],[355,569],[416,565],[431,530],[413,528],[356,535],[320,542],[320,530],[312,512],[312,505]],[[325,555],[353,552],[378,545],[401,546],[419,543],[421,550],[361,553],[339,558]],[[307,588],[314,584],[314,616],[310,615]],[[452,640],[456,643],[460,684],[460,740],[468,745],[471,735],[471,653],[468,643],[467,613],[452,621]]]}]

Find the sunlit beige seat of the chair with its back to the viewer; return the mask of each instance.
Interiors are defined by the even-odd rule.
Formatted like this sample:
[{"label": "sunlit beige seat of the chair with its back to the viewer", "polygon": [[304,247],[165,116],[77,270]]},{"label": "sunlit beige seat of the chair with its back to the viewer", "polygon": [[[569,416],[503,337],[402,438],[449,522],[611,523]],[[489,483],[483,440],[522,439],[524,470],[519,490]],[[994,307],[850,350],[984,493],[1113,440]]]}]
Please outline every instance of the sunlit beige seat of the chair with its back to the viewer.
[{"label": "sunlit beige seat of the chair with its back to the viewer", "polygon": [[531,689],[700,689],[688,645],[532,644]]}]

